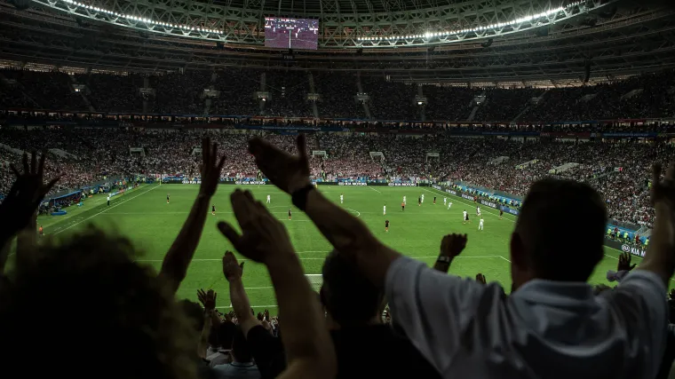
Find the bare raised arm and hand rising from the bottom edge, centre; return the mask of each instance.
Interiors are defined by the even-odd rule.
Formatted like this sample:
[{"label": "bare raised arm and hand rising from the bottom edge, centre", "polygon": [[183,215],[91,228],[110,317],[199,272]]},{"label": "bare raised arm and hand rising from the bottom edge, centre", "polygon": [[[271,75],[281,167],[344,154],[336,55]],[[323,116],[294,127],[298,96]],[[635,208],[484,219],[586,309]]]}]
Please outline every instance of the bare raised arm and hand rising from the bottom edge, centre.
[{"label": "bare raised arm and hand rising from the bottom edge, centre", "polygon": [[336,358],[325,318],[286,228],[249,192],[235,191],[232,207],[242,234],[224,222],[218,228],[242,255],[267,266],[274,285],[288,357],[288,367],[277,377],[333,377]]}]

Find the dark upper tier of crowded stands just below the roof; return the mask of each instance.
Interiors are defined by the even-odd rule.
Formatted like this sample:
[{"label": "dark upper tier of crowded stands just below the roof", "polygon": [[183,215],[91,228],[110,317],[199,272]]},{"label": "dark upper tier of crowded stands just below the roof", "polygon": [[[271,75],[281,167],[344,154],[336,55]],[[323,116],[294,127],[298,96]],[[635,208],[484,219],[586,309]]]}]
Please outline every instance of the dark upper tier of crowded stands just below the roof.
[{"label": "dark upper tier of crowded stands just below the roof", "polygon": [[[75,86],[82,91],[75,92]],[[239,68],[165,75],[0,70],[4,108],[99,113],[446,122],[615,120],[673,116],[674,88],[674,70],[550,90],[418,87],[380,75]],[[365,106],[356,99],[357,92],[368,94]],[[316,107],[308,94],[318,95]],[[425,98],[425,105],[417,105],[417,96]]]}]

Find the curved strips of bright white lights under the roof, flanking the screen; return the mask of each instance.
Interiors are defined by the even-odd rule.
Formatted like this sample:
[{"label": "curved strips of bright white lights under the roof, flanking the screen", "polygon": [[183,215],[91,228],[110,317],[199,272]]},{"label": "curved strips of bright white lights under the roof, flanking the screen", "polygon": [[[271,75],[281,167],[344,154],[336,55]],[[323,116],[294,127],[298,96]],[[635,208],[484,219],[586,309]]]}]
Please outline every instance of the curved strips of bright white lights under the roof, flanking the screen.
[{"label": "curved strips of bright white lights under the roof, flanking the screen", "polygon": [[[32,1],[35,1],[37,3],[42,4],[42,1],[40,1],[40,0],[32,0]],[[195,27],[190,27],[188,25],[171,24],[171,23],[163,22],[163,21],[150,20],[150,19],[147,19],[147,18],[137,17],[137,16],[134,16],[133,14],[129,14],[129,13],[112,12],[112,11],[109,11],[109,10],[103,8],[103,7],[93,6],[93,5],[90,5],[90,4],[83,4],[83,3],[79,2],[79,1],[76,1],[76,0],[57,0],[57,1],[61,1],[65,4],[69,4],[69,5],[73,5],[75,7],[86,9],[89,12],[92,12],[92,11],[93,12],[99,12],[99,13],[102,13],[102,14],[107,15],[107,16],[114,16],[114,17],[121,18],[121,19],[142,22],[142,23],[146,24],[148,27],[157,26],[157,27],[161,27],[161,28],[179,28],[179,29],[183,30],[184,32],[187,32],[188,34],[190,32],[201,32],[201,33],[206,33],[206,34],[209,34],[209,35],[217,35],[217,36],[224,36],[225,35],[225,33],[223,31],[217,30],[217,29],[195,28]],[[608,1],[607,4],[614,3],[615,1],[616,0],[610,0],[610,1]],[[415,35],[406,35],[406,36],[361,36],[361,37],[356,37],[355,40],[358,41],[358,42],[375,42],[375,43],[377,43],[377,42],[380,42],[380,41],[399,41],[399,40],[411,42],[411,41],[423,39],[423,40],[425,40],[425,42],[429,43],[433,38],[439,38],[441,40],[441,38],[444,38],[444,37],[447,37],[447,36],[459,36],[459,35],[466,35],[466,34],[469,34],[469,33],[484,32],[484,31],[494,30],[494,29],[498,29],[498,28],[504,28],[504,27],[510,27],[510,26],[518,25],[518,24],[523,23],[523,22],[531,22],[531,21],[535,21],[535,20],[548,18],[548,17],[550,17],[552,15],[555,15],[559,12],[570,10],[571,8],[574,8],[574,7],[576,7],[578,5],[581,5],[581,4],[584,4],[584,3],[585,3],[585,0],[584,1],[576,1],[575,3],[567,4],[564,7],[560,6],[558,8],[552,9],[548,12],[541,12],[541,13],[537,13],[537,14],[534,14],[534,15],[531,15],[531,16],[521,17],[519,19],[511,20],[511,21],[508,21],[508,22],[500,22],[500,23],[488,25],[487,27],[480,26],[480,27],[476,27],[476,28],[465,28],[465,29],[455,30],[455,31],[426,32],[425,34],[415,34]],[[603,5],[607,5],[607,4],[603,4]],[[55,8],[55,9],[60,9],[60,8]],[[63,11],[63,10],[61,10],[61,11]],[[580,14],[584,14],[584,13],[585,12],[579,12],[579,13],[576,14],[576,16],[578,16]],[[166,31],[162,32],[161,30],[153,30],[153,29],[149,29],[149,28],[148,28],[148,31],[158,32],[158,33],[168,33]],[[222,39],[218,38],[218,37],[202,36],[202,38],[209,38],[210,40],[222,41]],[[464,38],[464,40],[479,39],[479,38],[485,38],[485,36],[476,36],[476,37],[473,37],[473,38]],[[223,42],[226,42],[226,41],[223,41]],[[443,41],[441,40],[439,42],[442,43]],[[451,41],[446,41],[446,42],[449,43]],[[360,43],[360,44],[358,44],[354,47],[365,47],[365,46],[363,46]]]}]

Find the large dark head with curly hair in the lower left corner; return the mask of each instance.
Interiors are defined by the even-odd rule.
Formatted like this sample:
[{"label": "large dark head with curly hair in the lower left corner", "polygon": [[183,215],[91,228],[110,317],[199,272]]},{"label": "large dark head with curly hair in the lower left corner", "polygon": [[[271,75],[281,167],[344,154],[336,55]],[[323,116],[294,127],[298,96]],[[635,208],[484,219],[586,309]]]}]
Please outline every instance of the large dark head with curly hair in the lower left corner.
[{"label": "large dark head with curly hair in the lower left corner", "polygon": [[[93,227],[23,252],[0,287],[4,368],[25,370],[35,364],[26,351],[51,341],[59,346],[40,364],[52,375],[194,378],[194,332],[137,256],[131,241]],[[101,369],[101,357],[115,363]]]}]

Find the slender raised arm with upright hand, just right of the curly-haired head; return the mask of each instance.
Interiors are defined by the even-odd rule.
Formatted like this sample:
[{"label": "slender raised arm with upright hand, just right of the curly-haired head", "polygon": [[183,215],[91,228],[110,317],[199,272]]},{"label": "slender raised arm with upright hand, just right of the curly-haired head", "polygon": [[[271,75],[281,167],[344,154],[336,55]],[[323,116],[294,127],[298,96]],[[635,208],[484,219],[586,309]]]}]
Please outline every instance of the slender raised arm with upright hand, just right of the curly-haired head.
[{"label": "slender raised arm with upright hand, just right of the curly-haired head", "polygon": [[210,138],[204,138],[202,141],[202,185],[199,187],[199,194],[185,224],[164,257],[162,270],[159,273],[167,283],[170,283],[173,293],[178,291],[180,282],[187,275],[187,266],[195,256],[209,210],[209,201],[216,193],[223,164],[225,164],[224,156],[218,161],[218,145],[211,144]]}]

